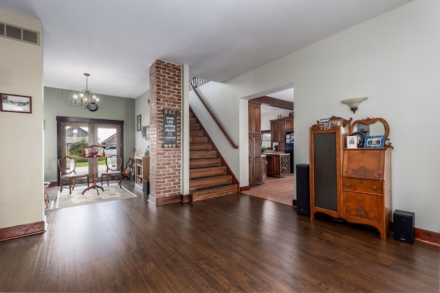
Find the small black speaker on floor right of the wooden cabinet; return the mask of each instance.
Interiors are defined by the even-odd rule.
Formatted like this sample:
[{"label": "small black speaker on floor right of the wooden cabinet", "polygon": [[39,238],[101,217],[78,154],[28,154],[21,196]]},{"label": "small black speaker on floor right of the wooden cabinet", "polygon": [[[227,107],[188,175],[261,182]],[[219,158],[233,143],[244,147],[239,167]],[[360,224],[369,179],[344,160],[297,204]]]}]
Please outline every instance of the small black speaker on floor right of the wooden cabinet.
[{"label": "small black speaker on floor right of the wooden cabinet", "polygon": [[393,213],[393,238],[414,244],[415,213],[396,209]]}]

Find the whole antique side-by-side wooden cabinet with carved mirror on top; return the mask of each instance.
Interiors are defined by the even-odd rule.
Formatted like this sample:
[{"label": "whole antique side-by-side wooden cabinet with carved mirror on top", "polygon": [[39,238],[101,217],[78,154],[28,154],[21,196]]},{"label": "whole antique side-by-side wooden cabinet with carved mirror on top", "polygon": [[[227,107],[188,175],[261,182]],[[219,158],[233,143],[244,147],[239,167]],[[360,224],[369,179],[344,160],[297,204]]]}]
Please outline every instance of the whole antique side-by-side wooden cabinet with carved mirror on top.
[{"label": "whole antique side-by-side wooden cabinet with carved mirror on top", "polygon": [[[331,117],[339,119],[339,117]],[[353,122],[342,120],[344,133],[358,131],[358,124],[369,131],[377,131],[374,124],[382,124],[384,148],[345,148],[345,137],[340,126],[320,130],[310,128],[310,208],[311,218],[316,212],[333,218],[377,228],[380,239],[386,240],[388,223],[392,220],[391,207],[391,143],[389,126],[384,119],[364,119]],[[370,127],[371,126],[371,127]],[[374,127],[373,127],[374,126]]]}]

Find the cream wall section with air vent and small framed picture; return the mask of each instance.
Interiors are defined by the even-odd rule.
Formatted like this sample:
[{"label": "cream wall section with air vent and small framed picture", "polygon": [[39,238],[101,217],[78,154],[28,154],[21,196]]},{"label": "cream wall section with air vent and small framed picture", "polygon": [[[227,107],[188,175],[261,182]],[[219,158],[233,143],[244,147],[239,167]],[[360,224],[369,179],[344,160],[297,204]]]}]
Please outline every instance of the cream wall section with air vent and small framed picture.
[{"label": "cream wall section with air vent and small framed picture", "polygon": [[[41,21],[0,10],[5,23]],[[43,44],[43,42],[41,42]],[[0,228],[40,222],[43,208],[43,47],[0,38],[0,92],[32,97],[32,113],[0,112]]]}]

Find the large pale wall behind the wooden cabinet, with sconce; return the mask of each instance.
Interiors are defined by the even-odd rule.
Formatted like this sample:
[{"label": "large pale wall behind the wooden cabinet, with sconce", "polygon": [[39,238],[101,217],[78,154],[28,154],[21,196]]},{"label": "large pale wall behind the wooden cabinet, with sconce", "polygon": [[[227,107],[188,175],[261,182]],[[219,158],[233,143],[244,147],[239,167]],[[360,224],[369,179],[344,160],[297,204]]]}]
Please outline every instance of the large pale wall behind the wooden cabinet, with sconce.
[{"label": "large pale wall behind the wooden cabinet, with sconce", "polygon": [[[393,209],[415,212],[417,228],[439,233],[439,36],[440,1],[415,0],[228,82],[205,84],[201,92],[225,113],[223,121],[237,137],[248,129],[241,98],[294,83],[295,164],[309,162],[309,126],[320,118],[386,119],[395,147]],[[340,103],[359,96],[369,99],[355,114]],[[247,141],[239,152],[222,152],[230,161],[241,161],[234,167],[245,185]]]}]

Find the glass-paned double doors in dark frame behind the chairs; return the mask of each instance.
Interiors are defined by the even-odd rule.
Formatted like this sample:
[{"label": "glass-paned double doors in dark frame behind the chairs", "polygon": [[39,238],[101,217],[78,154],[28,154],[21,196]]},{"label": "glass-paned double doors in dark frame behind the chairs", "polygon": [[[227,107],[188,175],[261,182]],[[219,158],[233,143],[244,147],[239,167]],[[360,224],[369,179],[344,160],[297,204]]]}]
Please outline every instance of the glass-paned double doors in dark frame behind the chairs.
[{"label": "glass-paned double doors in dark frame behind the chairs", "polygon": [[[78,117],[56,117],[57,120],[57,157],[71,156],[76,160],[76,172],[88,173],[98,178],[105,172],[105,157],[85,159],[83,147],[87,145],[102,145],[108,151],[107,156],[116,154],[123,156],[123,126],[124,121],[85,119]],[[96,169],[94,170],[94,161]],[[58,185],[60,184],[58,170]]]}]

